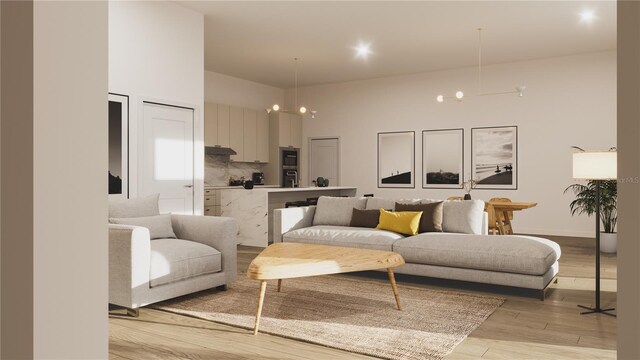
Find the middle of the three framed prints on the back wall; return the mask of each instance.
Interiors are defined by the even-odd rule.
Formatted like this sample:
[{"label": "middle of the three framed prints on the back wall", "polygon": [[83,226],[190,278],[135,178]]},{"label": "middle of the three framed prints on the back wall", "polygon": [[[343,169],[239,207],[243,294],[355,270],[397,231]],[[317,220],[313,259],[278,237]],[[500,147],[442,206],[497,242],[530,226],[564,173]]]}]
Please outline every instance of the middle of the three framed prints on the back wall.
[{"label": "middle of the three framed prints on the back wall", "polygon": [[423,130],[422,188],[460,189],[463,172],[464,130]]}]

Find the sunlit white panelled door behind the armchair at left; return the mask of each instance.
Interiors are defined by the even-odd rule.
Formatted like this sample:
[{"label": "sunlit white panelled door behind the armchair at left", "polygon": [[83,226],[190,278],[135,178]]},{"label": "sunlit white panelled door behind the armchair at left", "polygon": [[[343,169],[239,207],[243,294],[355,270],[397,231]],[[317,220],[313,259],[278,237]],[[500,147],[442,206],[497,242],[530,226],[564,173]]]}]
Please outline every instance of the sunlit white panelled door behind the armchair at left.
[{"label": "sunlit white panelled door behind the armchair at left", "polygon": [[144,103],[140,195],[160,212],[193,215],[193,109]]}]

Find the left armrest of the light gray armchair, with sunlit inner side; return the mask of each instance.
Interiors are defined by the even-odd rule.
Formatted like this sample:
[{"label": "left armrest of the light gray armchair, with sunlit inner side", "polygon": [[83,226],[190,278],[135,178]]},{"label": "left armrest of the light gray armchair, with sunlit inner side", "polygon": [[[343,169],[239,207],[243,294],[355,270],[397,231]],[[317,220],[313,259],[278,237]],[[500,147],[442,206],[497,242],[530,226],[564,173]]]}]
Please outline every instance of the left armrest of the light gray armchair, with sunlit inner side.
[{"label": "left armrest of the light gray armchair, with sunlit inner side", "polygon": [[136,298],[149,289],[149,229],[109,224],[109,302],[137,307]]}]

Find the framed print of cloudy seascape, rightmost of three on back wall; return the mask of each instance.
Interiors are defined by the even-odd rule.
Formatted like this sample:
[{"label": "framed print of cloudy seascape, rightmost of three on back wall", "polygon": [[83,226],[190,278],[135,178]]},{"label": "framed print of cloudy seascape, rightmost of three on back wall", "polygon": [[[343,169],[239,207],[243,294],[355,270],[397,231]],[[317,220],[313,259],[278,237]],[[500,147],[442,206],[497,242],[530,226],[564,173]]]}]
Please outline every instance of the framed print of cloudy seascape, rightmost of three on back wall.
[{"label": "framed print of cloudy seascape, rightmost of three on back wall", "polygon": [[471,129],[471,178],[477,189],[518,188],[518,127]]}]

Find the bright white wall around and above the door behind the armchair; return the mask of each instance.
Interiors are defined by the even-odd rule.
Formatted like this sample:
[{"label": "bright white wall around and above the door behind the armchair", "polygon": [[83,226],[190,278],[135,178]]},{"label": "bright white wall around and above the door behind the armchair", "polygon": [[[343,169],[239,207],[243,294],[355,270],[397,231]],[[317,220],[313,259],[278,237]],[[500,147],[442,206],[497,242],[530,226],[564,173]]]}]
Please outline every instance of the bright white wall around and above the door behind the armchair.
[{"label": "bright white wall around and above the door behind the armchair", "polygon": [[130,195],[138,195],[142,102],[195,109],[194,207],[204,196],[204,17],[167,1],[109,2],[109,92],[129,95]]}]

